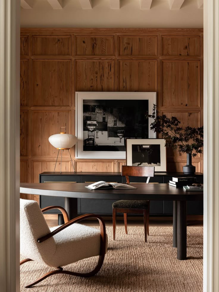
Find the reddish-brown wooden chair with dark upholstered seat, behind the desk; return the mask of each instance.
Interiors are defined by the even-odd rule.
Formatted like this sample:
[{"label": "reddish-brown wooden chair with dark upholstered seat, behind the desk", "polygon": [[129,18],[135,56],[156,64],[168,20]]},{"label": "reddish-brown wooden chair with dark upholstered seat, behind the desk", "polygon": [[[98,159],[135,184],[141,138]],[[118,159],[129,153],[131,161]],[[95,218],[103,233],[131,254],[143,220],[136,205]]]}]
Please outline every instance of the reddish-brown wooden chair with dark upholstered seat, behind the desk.
[{"label": "reddish-brown wooden chair with dark upholstered seat, behind the desk", "polygon": [[[126,177],[126,182],[129,183],[129,176],[132,177],[147,177],[146,183],[149,183],[150,177],[154,176],[154,166],[122,166],[122,175]],[[116,229],[116,213],[124,214],[125,231],[127,229],[127,213],[144,214],[144,230],[145,242],[147,242],[147,234],[149,235],[149,212],[150,201],[146,200],[120,200],[112,204],[112,225],[113,239],[115,240]]]}]

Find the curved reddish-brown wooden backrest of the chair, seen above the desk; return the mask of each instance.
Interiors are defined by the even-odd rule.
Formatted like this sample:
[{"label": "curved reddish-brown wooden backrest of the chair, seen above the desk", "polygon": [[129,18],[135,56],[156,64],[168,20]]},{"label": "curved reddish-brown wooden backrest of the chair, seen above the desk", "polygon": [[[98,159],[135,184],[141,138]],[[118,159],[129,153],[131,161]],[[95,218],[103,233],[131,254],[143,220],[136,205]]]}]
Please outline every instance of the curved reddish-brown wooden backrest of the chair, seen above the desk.
[{"label": "curved reddish-brown wooden backrest of the chair, seen above the desk", "polygon": [[122,175],[126,177],[126,182],[129,183],[130,177],[150,177],[154,176],[154,166],[126,166],[122,165]]}]

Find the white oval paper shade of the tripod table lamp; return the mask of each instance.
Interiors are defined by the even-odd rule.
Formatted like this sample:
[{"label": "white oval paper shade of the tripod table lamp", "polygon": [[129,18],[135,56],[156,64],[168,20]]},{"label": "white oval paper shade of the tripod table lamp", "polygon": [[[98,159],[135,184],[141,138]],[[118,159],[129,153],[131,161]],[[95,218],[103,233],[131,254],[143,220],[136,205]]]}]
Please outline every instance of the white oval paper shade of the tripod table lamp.
[{"label": "white oval paper shade of the tripod table lamp", "polygon": [[49,142],[57,149],[70,149],[77,142],[77,137],[71,134],[55,134],[49,137]]}]

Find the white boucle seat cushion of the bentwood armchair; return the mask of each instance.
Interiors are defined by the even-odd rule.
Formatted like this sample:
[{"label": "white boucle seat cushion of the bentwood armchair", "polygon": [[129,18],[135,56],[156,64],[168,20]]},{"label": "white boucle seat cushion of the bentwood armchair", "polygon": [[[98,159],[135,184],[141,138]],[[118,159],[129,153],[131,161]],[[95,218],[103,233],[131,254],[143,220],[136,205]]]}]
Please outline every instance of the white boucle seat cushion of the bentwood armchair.
[{"label": "white boucle seat cushion of the bentwood armchair", "polygon": [[[54,231],[57,228],[50,227],[50,231]],[[51,256],[49,266],[66,266],[78,260],[100,254],[99,229],[75,223],[55,234],[53,238],[56,250]]]}]

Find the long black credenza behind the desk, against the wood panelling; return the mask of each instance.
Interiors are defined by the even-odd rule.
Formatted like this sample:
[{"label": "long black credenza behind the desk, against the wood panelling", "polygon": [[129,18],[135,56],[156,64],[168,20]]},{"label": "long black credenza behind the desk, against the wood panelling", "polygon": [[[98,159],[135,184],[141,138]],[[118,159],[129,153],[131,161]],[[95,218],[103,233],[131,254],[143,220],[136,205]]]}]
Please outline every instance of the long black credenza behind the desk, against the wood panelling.
[{"label": "long black credenza behind the desk, against the wood panelling", "polygon": [[[185,176],[181,172],[157,172],[154,177],[150,178],[150,183],[168,183],[172,177]],[[203,174],[196,172],[194,175],[197,181],[203,183]],[[40,183],[47,182],[98,182],[103,180],[105,182],[125,183],[126,178],[121,176],[121,172],[43,172],[39,175]],[[146,183],[147,177],[130,177],[130,183],[142,182]],[[78,214],[95,213],[101,215],[112,215],[112,203],[115,200],[107,199],[78,199]],[[40,207],[44,208],[51,205],[59,205],[64,207],[65,199],[63,197],[40,196]],[[60,214],[60,211],[48,211],[50,214]],[[168,216],[173,214],[172,201],[151,201],[150,215],[154,216]],[[187,202],[188,215],[203,215],[203,201],[189,201]],[[61,218],[60,218],[61,219]]]}]

